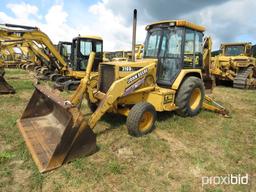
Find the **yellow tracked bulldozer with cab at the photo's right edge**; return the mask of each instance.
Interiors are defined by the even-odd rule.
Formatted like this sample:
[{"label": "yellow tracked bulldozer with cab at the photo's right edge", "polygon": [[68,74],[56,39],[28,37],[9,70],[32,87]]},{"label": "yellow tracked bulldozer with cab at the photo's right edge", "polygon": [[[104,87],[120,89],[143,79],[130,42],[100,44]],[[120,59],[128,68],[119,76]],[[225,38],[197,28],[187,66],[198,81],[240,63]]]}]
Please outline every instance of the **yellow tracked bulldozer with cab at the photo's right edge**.
[{"label": "yellow tracked bulldozer with cab at the photo's right edge", "polygon": [[212,62],[211,73],[217,82],[229,81],[240,89],[256,88],[256,58],[251,43],[221,44],[220,54]]}]

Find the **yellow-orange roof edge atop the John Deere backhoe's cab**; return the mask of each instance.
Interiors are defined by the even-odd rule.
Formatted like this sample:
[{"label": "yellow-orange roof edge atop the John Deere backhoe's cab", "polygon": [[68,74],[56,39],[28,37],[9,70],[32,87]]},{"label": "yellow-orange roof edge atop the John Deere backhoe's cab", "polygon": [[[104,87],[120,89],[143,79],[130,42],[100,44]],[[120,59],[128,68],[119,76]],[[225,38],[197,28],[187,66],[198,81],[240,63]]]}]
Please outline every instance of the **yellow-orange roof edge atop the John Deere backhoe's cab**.
[{"label": "yellow-orange roof edge atop the John Deere backhoe's cab", "polygon": [[155,22],[152,24],[149,24],[146,26],[146,30],[152,29],[156,26],[178,26],[178,27],[187,27],[196,31],[200,31],[200,32],[204,32],[205,31],[205,27],[200,26],[200,25],[196,25],[194,23],[191,23],[189,21],[186,20],[164,20],[164,21],[159,21],[159,22]]}]

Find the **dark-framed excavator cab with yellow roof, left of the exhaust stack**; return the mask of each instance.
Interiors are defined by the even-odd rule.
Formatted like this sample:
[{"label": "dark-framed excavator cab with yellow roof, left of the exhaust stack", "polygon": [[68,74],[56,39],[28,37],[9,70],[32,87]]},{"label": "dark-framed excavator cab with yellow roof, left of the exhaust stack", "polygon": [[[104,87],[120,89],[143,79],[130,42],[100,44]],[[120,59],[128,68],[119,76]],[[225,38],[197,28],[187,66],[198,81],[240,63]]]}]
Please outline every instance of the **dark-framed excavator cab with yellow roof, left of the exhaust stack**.
[{"label": "dark-framed excavator cab with yellow roof, left of the exhaust stack", "polygon": [[90,52],[95,52],[92,71],[98,70],[98,65],[103,60],[103,40],[96,36],[77,37],[72,42],[71,68],[74,71],[85,71]]}]

